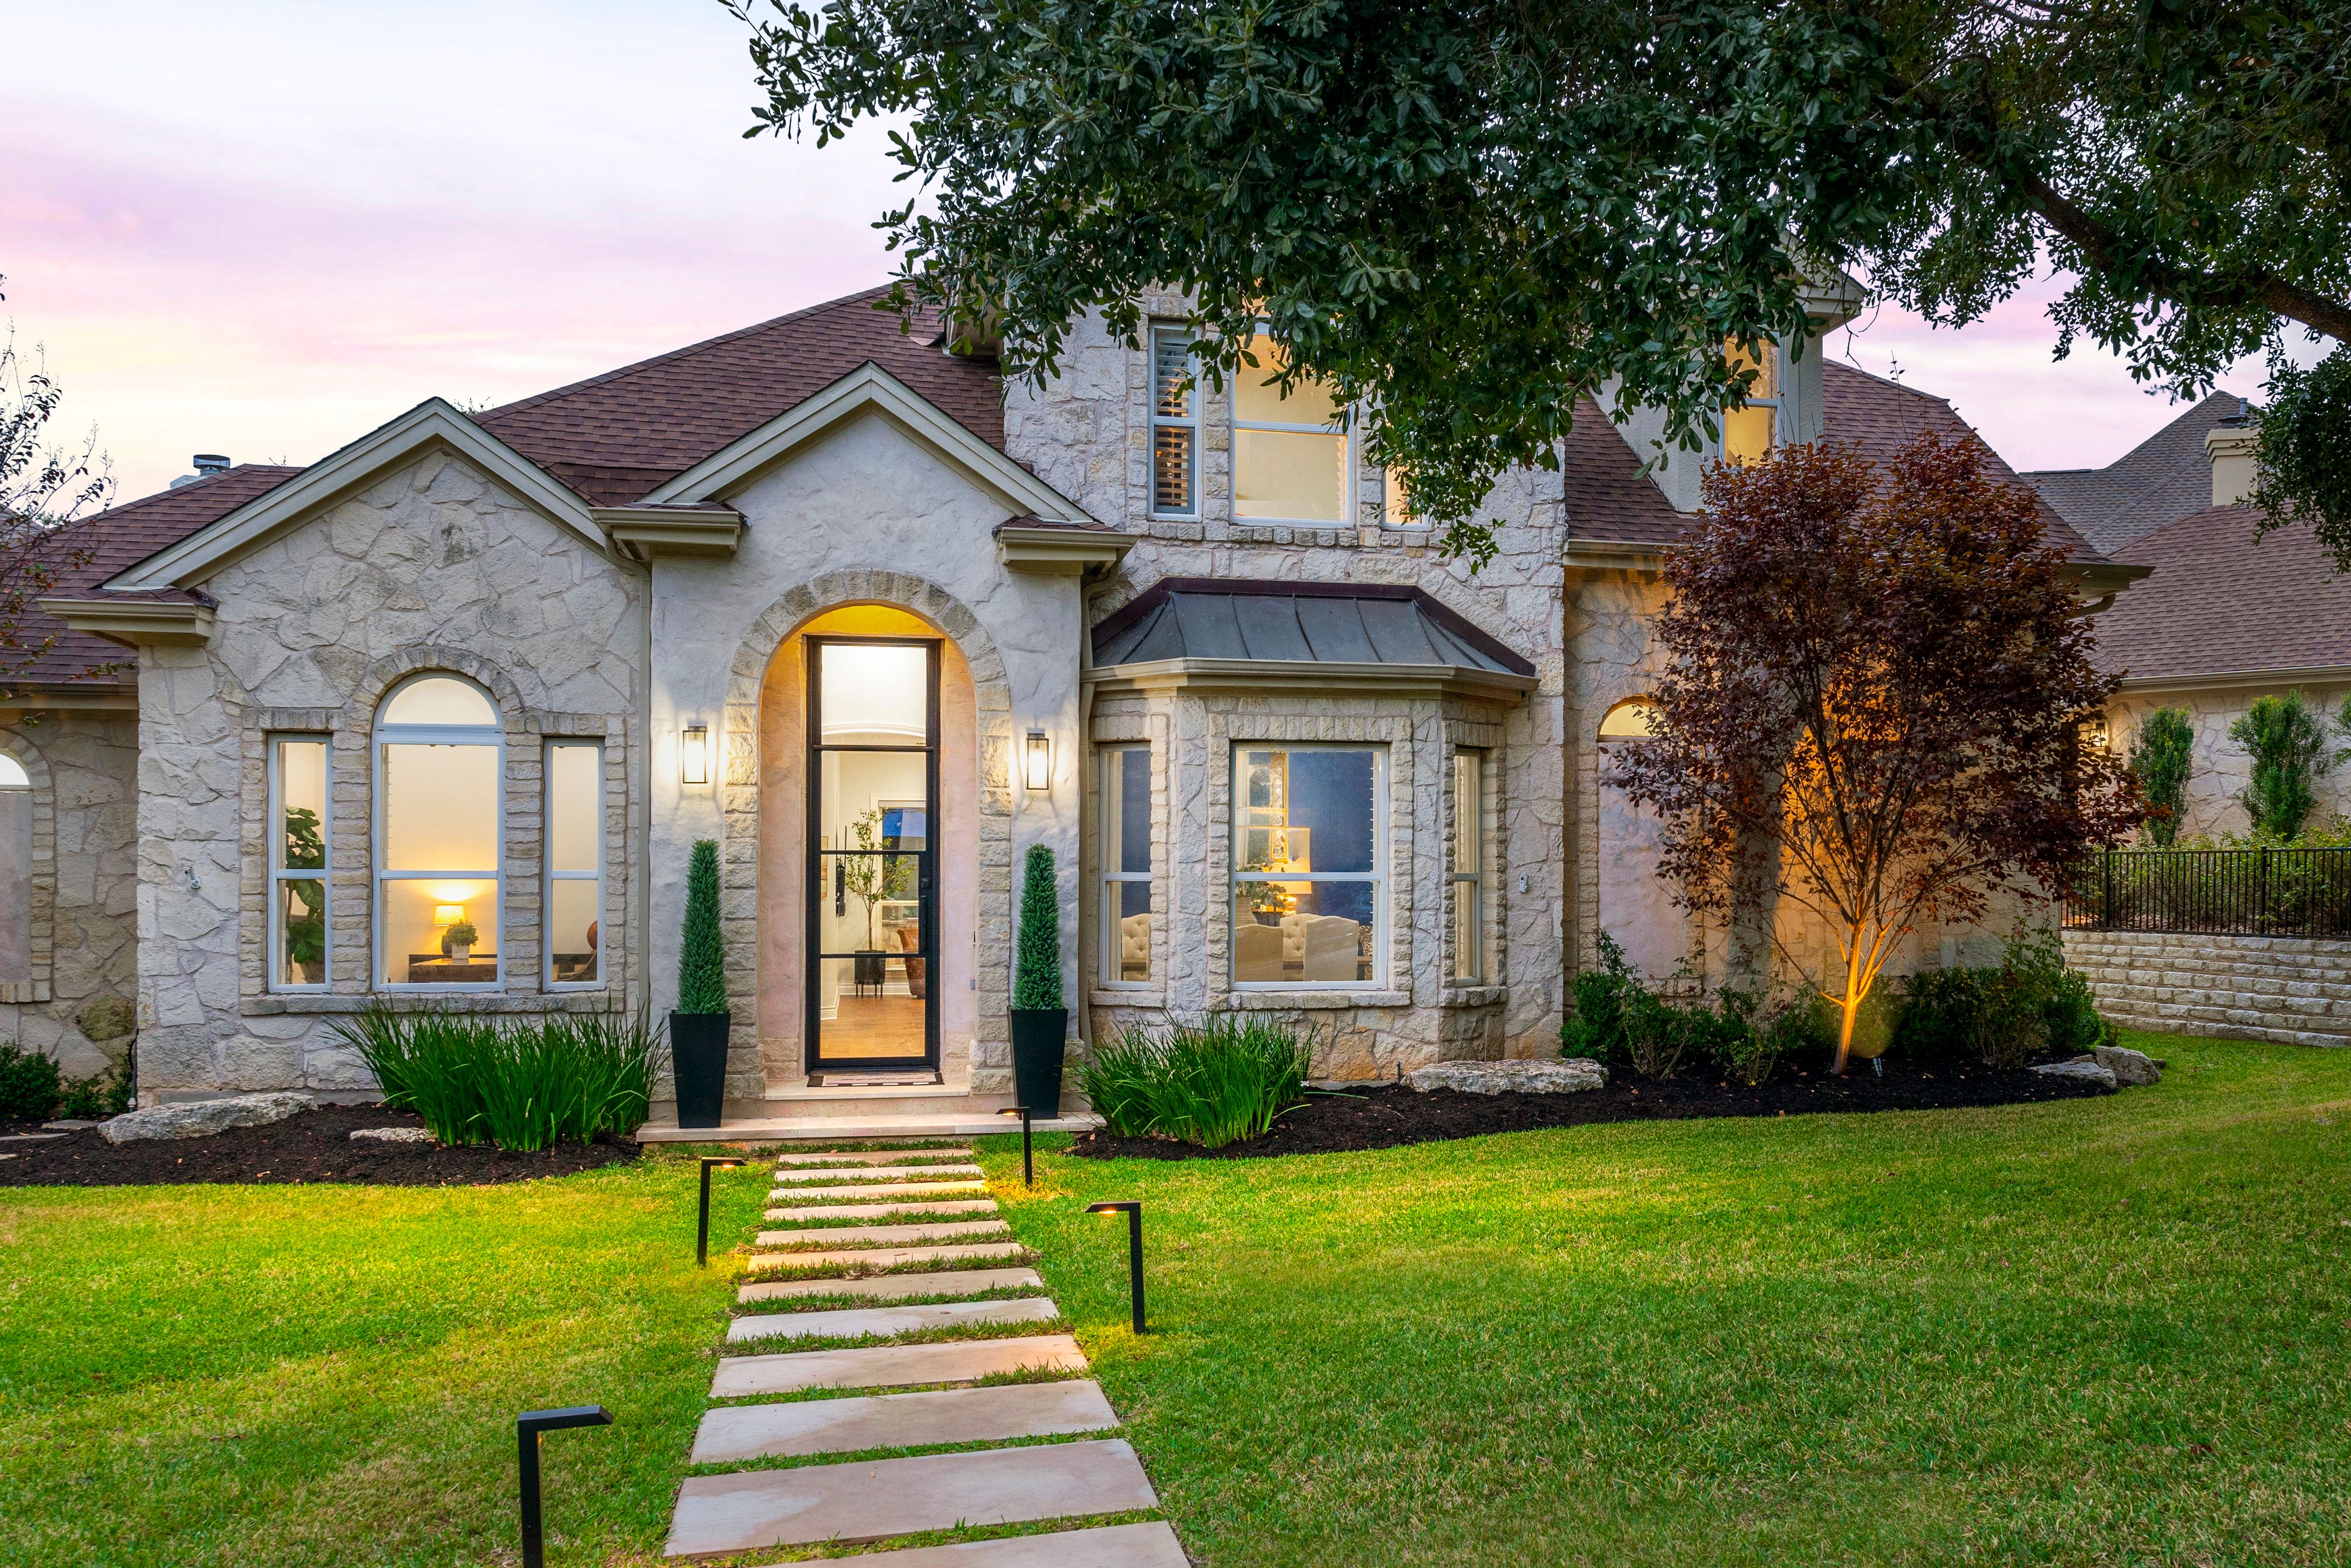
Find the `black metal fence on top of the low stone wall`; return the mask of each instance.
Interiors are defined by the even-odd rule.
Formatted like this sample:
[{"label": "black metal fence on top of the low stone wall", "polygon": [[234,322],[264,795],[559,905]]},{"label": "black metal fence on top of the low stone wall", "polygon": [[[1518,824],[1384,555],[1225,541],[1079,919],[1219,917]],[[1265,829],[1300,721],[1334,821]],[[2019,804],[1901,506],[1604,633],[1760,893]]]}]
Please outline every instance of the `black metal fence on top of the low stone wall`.
[{"label": "black metal fence on top of the low stone wall", "polygon": [[2069,931],[2351,936],[2351,849],[2121,849],[2064,900]]}]

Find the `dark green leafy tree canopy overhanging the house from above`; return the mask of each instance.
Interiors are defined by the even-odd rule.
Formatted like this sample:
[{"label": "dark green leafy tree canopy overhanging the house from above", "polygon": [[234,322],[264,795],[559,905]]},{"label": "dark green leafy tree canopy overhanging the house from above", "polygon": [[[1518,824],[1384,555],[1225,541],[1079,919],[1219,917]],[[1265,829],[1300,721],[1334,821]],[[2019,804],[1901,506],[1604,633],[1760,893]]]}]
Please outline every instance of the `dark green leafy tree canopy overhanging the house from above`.
[{"label": "dark green leafy tree canopy overhanging the house from above", "polygon": [[[2059,353],[2182,395],[2283,322],[2351,336],[2339,0],[726,2],[748,134],[903,122],[907,296],[1027,376],[1152,284],[1211,378],[1262,320],[1472,555],[1580,393],[1712,440],[1723,343],[1801,331],[1829,266],[1958,324],[2055,261]],[[2351,538],[2346,487],[2283,501]]]}]

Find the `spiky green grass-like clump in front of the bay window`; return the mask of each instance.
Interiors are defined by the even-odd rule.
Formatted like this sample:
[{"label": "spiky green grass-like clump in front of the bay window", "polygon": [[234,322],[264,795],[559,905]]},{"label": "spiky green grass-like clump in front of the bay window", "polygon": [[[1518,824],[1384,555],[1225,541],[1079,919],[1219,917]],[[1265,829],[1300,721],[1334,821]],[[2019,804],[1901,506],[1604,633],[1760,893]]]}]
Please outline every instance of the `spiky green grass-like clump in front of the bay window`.
[{"label": "spiky green grass-like clump in front of the bay window", "polygon": [[1079,1065],[1077,1081],[1112,1133],[1220,1150],[1258,1138],[1305,1095],[1312,1044],[1295,1030],[1220,1013],[1161,1032],[1128,1027]]}]

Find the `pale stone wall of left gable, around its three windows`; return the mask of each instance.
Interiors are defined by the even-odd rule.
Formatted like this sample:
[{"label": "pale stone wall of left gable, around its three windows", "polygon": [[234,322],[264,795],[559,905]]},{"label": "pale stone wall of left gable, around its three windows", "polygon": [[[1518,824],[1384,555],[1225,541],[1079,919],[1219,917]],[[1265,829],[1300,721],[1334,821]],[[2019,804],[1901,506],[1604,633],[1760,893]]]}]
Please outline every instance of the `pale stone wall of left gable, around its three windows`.
[{"label": "pale stone wall of left gable, around its three windows", "polygon": [[[139,1091],[364,1093],[331,1037],[374,969],[371,752],[381,696],[416,670],[489,689],[505,726],[503,992],[489,1011],[597,1006],[541,994],[541,748],[607,764],[607,992],[642,1001],[644,578],[451,454],[428,454],[216,571],[209,646],[139,670]],[[266,971],[266,738],[331,736],[329,994]]]}]

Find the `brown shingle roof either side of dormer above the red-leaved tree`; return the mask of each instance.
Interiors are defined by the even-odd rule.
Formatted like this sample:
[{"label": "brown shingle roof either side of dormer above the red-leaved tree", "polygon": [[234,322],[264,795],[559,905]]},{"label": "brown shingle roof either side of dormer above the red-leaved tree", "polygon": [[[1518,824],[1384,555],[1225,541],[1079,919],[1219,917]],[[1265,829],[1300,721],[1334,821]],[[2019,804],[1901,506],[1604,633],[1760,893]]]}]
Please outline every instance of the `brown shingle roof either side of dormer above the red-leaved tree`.
[{"label": "brown shingle roof either side of dormer above the red-leaved tree", "polygon": [[[1984,454],[1984,473],[2008,484],[2024,484],[2024,477],[1942,397],[1836,360],[1822,362],[1820,437],[1824,442],[1857,447],[1862,456],[1886,463],[1928,430],[1975,442]],[[1589,397],[1575,404],[1575,430],[1568,433],[1561,463],[1566,468],[1568,538],[1634,545],[1669,545],[1681,538],[1686,515],[1676,512],[1657,487],[1641,477],[1641,458]],[[2064,545],[2074,559],[2104,559],[2048,501],[2041,501],[2041,522],[2050,541]]]}]

